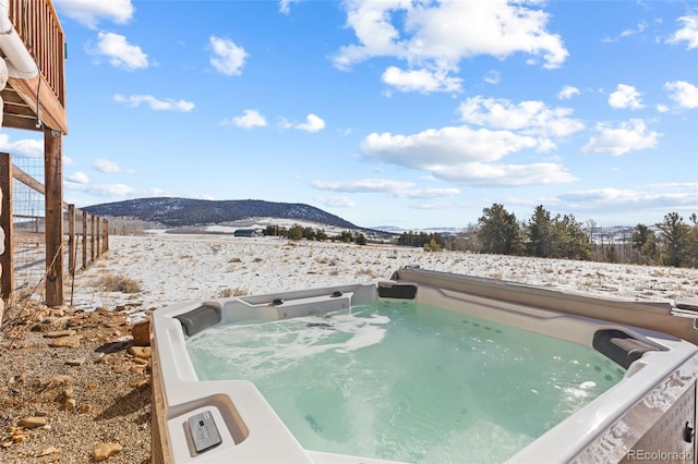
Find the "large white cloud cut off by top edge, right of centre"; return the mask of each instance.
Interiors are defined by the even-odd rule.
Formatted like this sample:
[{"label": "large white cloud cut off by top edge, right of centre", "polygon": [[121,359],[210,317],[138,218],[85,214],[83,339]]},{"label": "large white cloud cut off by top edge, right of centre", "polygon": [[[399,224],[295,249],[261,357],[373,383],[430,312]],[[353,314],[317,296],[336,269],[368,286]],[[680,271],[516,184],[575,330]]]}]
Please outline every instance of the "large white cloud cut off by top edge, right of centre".
[{"label": "large white cloud cut off by top edge, right of centre", "polygon": [[[549,14],[537,8],[541,4],[538,0],[349,0],[345,3],[347,26],[358,42],[341,47],[334,64],[349,69],[374,57],[393,57],[409,63],[411,72],[421,68],[447,76],[465,58],[505,59],[522,52],[542,59],[544,68],[558,68],[569,53],[561,37],[546,30]],[[398,83],[404,84],[407,76],[399,77]],[[456,83],[450,81],[450,85]]]}]

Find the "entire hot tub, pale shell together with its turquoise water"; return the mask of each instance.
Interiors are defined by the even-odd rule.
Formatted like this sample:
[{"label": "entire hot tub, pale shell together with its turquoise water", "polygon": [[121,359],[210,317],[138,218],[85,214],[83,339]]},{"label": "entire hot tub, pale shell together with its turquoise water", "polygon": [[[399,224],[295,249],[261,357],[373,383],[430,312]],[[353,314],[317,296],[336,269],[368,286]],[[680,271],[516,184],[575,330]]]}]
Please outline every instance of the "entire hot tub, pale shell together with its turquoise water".
[{"label": "entire hot tub, pale shell together with its turquoise water", "polygon": [[[375,305],[385,309],[374,309]],[[432,307],[434,315],[438,312],[437,316],[431,317]],[[297,379],[303,376],[338,378],[333,384],[339,386],[345,398],[364,400],[349,405],[333,403],[341,401],[342,394],[335,394],[332,388],[309,390],[292,377],[267,380],[275,387],[272,390],[276,391],[276,398],[270,390],[265,390],[270,387],[256,383],[255,375],[260,370],[287,370],[296,375],[293,369],[301,369],[297,361],[305,356],[309,347],[313,355],[320,351],[369,352],[366,347],[372,350],[380,344],[376,340],[384,334],[383,325],[388,319],[401,319],[401,315],[408,314],[429,318],[414,322],[418,331],[428,332],[419,334],[424,335],[425,341],[418,341],[416,332],[408,333],[408,342],[393,349],[395,353],[389,354],[387,366],[393,364],[389,359],[397,363],[400,357],[414,358],[422,350],[417,347],[418,343],[431,345],[431,339],[441,343],[446,332],[456,334],[456,344],[437,345],[434,354],[418,362],[417,371],[398,377],[401,380],[375,380],[376,388],[400,390],[398,396],[400,393],[401,396],[396,403],[400,411],[389,413],[389,419],[378,423],[377,429],[370,432],[390,435],[393,426],[407,428],[408,438],[398,441],[410,440],[410,434],[417,441],[422,438],[420,435],[429,434],[420,428],[423,416],[425,422],[445,426],[436,434],[449,435],[438,444],[438,452],[373,454],[358,445],[358,452],[352,452],[350,443],[333,448],[345,439],[348,429],[362,429],[364,424],[377,420],[372,411],[383,406],[381,396],[365,399],[366,393],[372,394],[365,387],[360,387],[363,390],[345,388],[351,379],[373,380],[382,369],[368,370],[373,358],[352,355],[349,364],[359,369],[365,367],[363,371],[369,374],[363,376],[352,374],[342,379],[340,374],[347,367],[339,366],[339,373],[330,369],[341,361],[314,357],[310,358],[314,371],[296,373]],[[445,323],[440,327],[434,318]],[[293,343],[299,338],[312,340],[305,340],[303,353],[293,351],[298,350],[297,345],[284,345],[265,365],[262,357],[266,354],[255,354],[261,353],[258,351],[242,345],[219,349],[216,344],[207,355],[222,357],[220,368],[202,366],[196,353],[202,346],[205,351],[207,340],[215,340],[208,337],[238,342],[242,339],[241,332],[225,330],[240,327],[272,330],[273,338],[265,332],[255,335],[267,337],[257,339],[257,346],[253,346],[264,353],[281,345],[289,337]],[[288,327],[300,327],[302,331],[300,335],[291,334],[294,332]],[[510,340],[505,343],[507,338],[515,340],[514,345]],[[591,298],[419,268],[399,269],[389,280],[369,284],[183,302],[155,312],[152,319],[153,460],[173,463],[527,463],[624,459],[695,462],[693,429],[698,349],[691,342],[697,339],[694,319],[672,316],[671,307]],[[410,346],[411,340],[416,346]],[[226,361],[227,355],[220,355],[227,350],[230,350],[230,362]],[[470,359],[471,351],[480,351],[485,357],[471,365],[466,361]],[[458,365],[461,354],[466,367]],[[246,374],[244,369],[227,374],[227,365],[244,356],[252,362],[255,356],[260,357],[260,364],[248,364],[253,370]],[[542,362],[532,356],[542,357]],[[442,367],[446,357],[455,359],[458,367]],[[519,358],[524,368],[520,363],[519,367],[505,363],[505,357]],[[287,359],[286,364],[274,364],[279,359]],[[287,366],[289,363],[291,367]],[[576,367],[569,367],[575,364],[579,365],[579,374]],[[425,370],[420,371],[420,366]],[[426,367],[442,371],[426,370]],[[302,368],[308,369],[309,364]],[[454,377],[455,370],[465,370],[466,377]],[[569,371],[569,379],[557,378],[563,371]],[[504,377],[496,373],[503,373]],[[535,376],[540,378],[540,387],[534,382]],[[454,382],[452,387],[446,384],[447,379]],[[429,383],[430,380],[435,383]],[[492,382],[491,389],[488,381]],[[412,383],[423,383],[422,390],[426,391],[443,384],[445,391],[457,392],[453,399],[445,392],[434,392],[431,396],[435,398],[431,400],[436,403],[423,403],[424,410],[420,413],[421,400],[416,400],[416,393],[409,390]],[[474,387],[470,388],[468,394],[472,398],[468,400],[461,396],[460,390],[471,383]],[[522,391],[524,396],[512,400],[502,383],[510,383],[512,389]],[[544,386],[551,390],[544,390]],[[267,391],[268,398],[261,390]],[[494,399],[485,398],[488,390],[495,391]],[[592,390],[597,393],[591,394]],[[286,401],[285,396],[298,400]],[[557,396],[569,399],[571,405],[558,404]],[[292,402],[303,402],[304,407],[310,408],[301,408],[298,420],[293,412],[287,412],[284,406]],[[419,404],[411,407],[412,402]],[[315,414],[321,403],[334,406],[336,414],[330,412],[324,418],[318,415],[322,413]],[[527,403],[531,403],[528,410]],[[440,410],[440,405],[444,408]],[[551,411],[544,411],[546,408]],[[559,416],[552,411],[557,408],[568,412]],[[417,410],[417,416],[407,415],[402,410]],[[542,414],[544,427],[533,425],[533,431],[525,429],[525,423],[539,412],[546,413]],[[365,419],[366,415],[371,417]],[[347,424],[341,422],[345,416]],[[480,422],[473,425],[469,420]],[[405,423],[411,427],[404,427]],[[322,440],[309,442],[305,429],[311,436],[317,432],[329,437],[325,440],[329,448],[325,448]],[[450,448],[447,450],[450,452],[444,453],[444,448]],[[393,455],[400,459],[396,461]]]}]

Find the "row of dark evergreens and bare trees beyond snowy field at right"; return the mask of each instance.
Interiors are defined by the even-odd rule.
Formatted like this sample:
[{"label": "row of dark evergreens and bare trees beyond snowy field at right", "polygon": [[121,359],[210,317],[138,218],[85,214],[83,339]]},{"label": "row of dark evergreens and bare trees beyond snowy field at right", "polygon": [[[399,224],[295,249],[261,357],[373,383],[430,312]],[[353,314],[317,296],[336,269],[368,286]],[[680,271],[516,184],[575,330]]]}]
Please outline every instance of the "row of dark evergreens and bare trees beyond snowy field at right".
[{"label": "row of dark evergreens and bare trees beyond snowy field at right", "polygon": [[501,204],[483,208],[477,224],[444,237],[438,233],[404,232],[397,244],[425,251],[455,249],[472,253],[540,258],[598,260],[643,265],[698,267],[698,217],[688,222],[677,212],[653,225],[637,224],[623,243],[597,243],[593,220],[587,224],[574,215],[553,216],[542,205],[528,220],[519,221]]}]

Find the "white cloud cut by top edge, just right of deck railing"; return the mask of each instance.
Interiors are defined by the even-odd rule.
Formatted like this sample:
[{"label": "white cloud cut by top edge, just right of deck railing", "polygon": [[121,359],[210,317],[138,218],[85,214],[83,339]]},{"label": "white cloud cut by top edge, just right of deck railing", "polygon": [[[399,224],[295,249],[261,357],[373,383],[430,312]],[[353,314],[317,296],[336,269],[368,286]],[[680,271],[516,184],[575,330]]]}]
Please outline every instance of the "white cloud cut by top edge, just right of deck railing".
[{"label": "white cloud cut by top edge, just right of deck railing", "polygon": [[133,17],[131,0],[53,0],[56,8],[84,26],[96,28],[100,20],[125,24]]}]

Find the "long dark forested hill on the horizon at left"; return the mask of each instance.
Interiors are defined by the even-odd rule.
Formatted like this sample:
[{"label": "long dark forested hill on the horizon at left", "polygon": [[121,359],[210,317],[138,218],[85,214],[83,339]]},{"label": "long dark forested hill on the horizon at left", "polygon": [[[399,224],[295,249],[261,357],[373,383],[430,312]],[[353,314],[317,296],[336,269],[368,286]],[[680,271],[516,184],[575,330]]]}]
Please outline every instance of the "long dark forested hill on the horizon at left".
[{"label": "long dark forested hill on the horizon at left", "polygon": [[300,203],[260,199],[206,200],[191,198],[136,198],[81,208],[91,215],[133,218],[168,228],[234,222],[250,218],[278,218],[327,227],[363,230],[327,211]]}]

